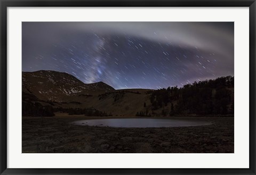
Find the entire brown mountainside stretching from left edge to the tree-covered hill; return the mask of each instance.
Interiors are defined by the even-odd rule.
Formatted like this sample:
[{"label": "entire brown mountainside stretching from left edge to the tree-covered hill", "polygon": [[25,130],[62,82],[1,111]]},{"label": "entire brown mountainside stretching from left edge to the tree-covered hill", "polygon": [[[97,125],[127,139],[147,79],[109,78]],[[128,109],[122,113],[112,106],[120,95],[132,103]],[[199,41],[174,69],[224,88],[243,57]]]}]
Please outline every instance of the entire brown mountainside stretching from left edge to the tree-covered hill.
[{"label": "entire brown mountainside stretching from left edge to the tree-covered hill", "polygon": [[[112,115],[134,116],[150,103],[149,89],[115,90],[104,82],[84,84],[68,73],[22,72],[23,113],[37,115],[42,106],[53,109],[97,109]],[[35,105],[36,104],[36,105]],[[42,105],[42,106],[41,106]]]}]

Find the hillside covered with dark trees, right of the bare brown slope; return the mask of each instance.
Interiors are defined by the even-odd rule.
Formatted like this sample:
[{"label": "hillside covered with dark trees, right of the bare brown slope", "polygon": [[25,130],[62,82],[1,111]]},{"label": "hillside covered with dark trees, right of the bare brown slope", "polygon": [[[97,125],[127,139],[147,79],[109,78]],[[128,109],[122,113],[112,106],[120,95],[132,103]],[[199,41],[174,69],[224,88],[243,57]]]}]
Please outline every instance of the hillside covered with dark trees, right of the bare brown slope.
[{"label": "hillside covered with dark trees, right of the bare brown slope", "polygon": [[[220,77],[187,84],[182,88],[150,90],[150,107],[137,116],[234,115],[234,77]],[[151,110],[151,112],[150,112]]]}]

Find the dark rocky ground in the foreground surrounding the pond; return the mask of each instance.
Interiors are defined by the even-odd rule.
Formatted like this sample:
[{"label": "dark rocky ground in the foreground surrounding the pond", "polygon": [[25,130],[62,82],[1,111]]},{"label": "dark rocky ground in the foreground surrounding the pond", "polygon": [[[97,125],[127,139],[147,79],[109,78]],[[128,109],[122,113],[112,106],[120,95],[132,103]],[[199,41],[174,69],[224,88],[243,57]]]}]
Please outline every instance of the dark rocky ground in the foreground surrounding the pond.
[{"label": "dark rocky ground in the foreground surrounding the pond", "polygon": [[178,118],[210,121],[213,124],[174,128],[110,128],[70,123],[95,117],[23,117],[22,153],[234,153],[234,117]]}]

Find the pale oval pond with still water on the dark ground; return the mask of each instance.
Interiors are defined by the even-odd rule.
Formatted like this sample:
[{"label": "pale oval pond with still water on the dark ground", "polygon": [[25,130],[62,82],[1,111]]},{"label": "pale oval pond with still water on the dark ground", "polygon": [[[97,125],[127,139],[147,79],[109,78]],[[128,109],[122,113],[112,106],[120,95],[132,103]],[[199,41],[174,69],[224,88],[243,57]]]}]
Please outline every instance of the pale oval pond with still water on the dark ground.
[{"label": "pale oval pond with still water on the dark ground", "polygon": [[174,119],[95,119],[72,122],[82,126],[116,127],[116,128],[161,128],[189,127],[211,124],[206,121],[174,120]]}]

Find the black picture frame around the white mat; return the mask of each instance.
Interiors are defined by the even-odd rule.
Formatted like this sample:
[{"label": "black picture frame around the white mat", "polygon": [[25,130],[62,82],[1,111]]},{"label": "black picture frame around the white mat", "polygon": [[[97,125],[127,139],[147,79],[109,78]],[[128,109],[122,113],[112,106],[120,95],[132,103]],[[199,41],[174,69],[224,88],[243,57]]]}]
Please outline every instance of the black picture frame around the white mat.
[{"label": "black picture frame around the white mat", "polygon": [[[255,0],[0,0],[1,4],[1,174],[255,174]],[[12,169],[7,168],[7,7],[250,7],[250,168],[249,169]],[[241,160],[243,161],[243,160]],[[209,162],[210,163],[210,162]]]}]

